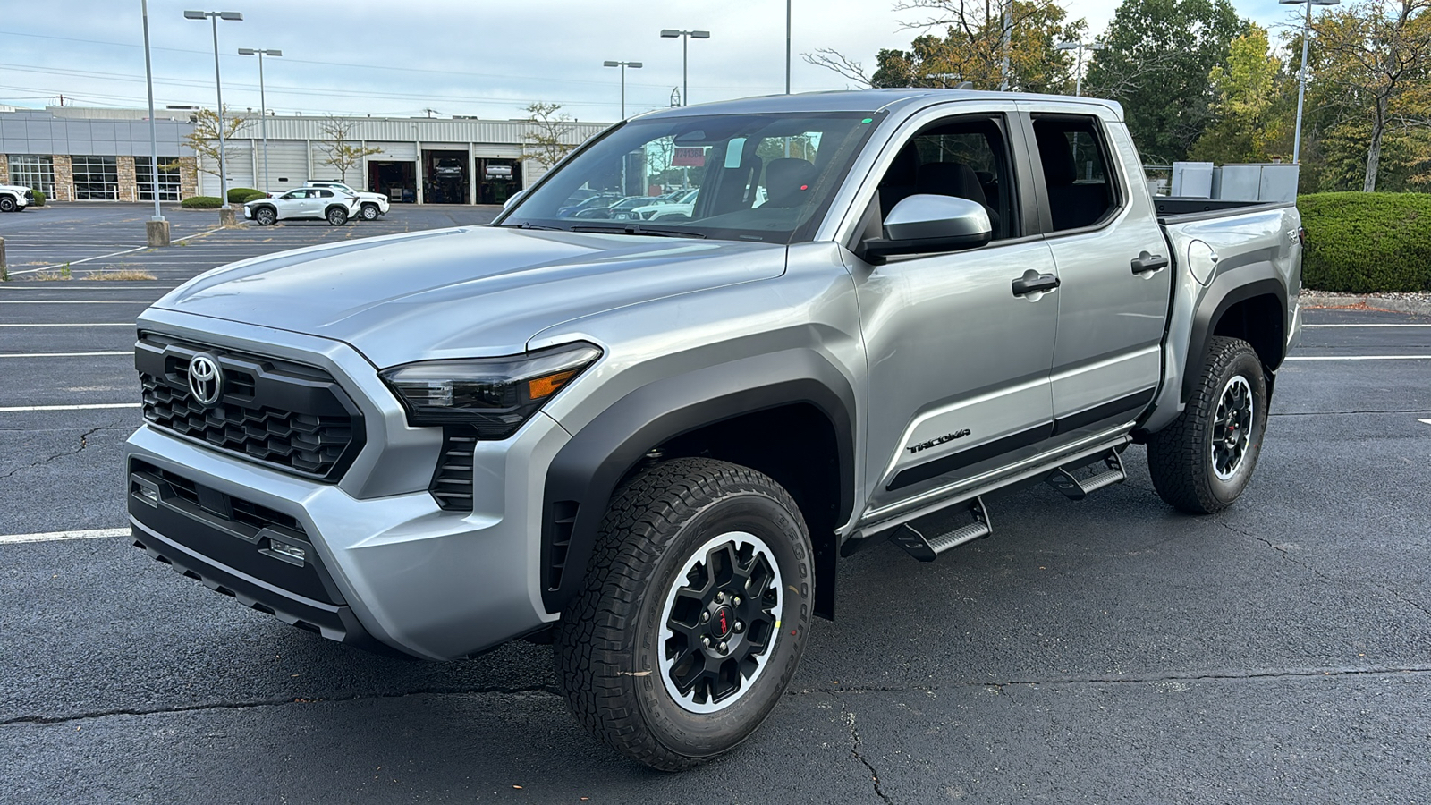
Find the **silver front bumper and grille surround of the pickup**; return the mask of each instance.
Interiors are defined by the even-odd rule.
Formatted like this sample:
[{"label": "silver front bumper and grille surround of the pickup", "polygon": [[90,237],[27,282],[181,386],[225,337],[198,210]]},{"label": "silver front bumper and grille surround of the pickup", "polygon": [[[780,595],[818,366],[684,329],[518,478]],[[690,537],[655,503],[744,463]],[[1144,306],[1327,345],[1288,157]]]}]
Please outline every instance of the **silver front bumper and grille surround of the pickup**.
[{"label": "silver front bumper and grille surround of the pickup", "polygon": [[[195,337],[175,327],[187,317],[150,311],[145,318],[172,319],[155,329]],[[444,511],[426,491],[439,438],[431,450],[421,447],[432,434],[415,431],[429,428],[406,427],[376,370],[351,348],[215,319],[196,327],[209,331],[209,342],[240,350],[265,350],[242,335],[288,341],[286,348],[268,344],[265,352],[321,364],[361,407],[372,408],[365,411],[368,443],[343,480],[329,484],[146,424],[129,438],[124,458],[130,523],[146,551],[285,622],[424,659],[468,656],[557,619],[541,602],[539,513],[547,467],[570,440],[561,425],[537,414],[505,441],[478,443],[472,513]],[[215,329],[229,331],[228,337]],[[308,341],[323,347],[299,358],[295,345]],[[361,372],[366,375],[355,377]],[[401,431],[409,431],[409,441],[421,438],[401,444]],[[203,507],[172,500],[156,506],[136,477],[145,464],[207,490],[210,501],[220,500]],[[404,471],[401,464],[414,467]],[[225,496],[290,517],[301,536],[280,533],[279,539],[305,550],[311,546],[311,564],[326,582],[305,587],[290,561],[263,553],[265,537],[215,521],[212,514],[225,510]]]}]

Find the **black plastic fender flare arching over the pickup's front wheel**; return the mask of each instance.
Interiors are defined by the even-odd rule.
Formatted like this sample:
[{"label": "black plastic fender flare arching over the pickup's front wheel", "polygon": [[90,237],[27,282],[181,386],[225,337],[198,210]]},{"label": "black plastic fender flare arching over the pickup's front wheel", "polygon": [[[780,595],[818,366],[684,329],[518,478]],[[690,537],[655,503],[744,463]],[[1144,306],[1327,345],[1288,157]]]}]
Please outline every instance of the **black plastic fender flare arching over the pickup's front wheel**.
[{"label": "black plastic fender flare arching over the pickup's front wheel", "polygon": [[[663,378],[598,414],[547,468],[541,513],[541,593],[547,612],[560,612],[581,592],[607,503],[653,447],[723,420],[800,403],[814,405],[834,428],[839,521],[847,520],[854,506],[856,401],[850,382],[829,360],[813,350],[786,350]],[[811,537],[817,543],[816,609],[833,613],[834,534],[824,550],[820,534]],[[560,556],[562,543],[565,553]],[[821,579],[827,582],[821,584]]]}]

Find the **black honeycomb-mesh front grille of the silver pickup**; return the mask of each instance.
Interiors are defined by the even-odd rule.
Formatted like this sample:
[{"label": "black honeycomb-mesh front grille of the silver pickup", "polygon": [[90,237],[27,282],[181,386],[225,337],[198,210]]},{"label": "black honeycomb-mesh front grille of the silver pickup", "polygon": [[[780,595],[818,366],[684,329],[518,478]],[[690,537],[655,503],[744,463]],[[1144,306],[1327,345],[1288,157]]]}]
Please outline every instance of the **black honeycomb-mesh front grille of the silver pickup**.
[{"label": "black honeycomb-mesh front grille of the silver pickup", "polygon": [[[189,364],[219,367],[219,397],[200,403]],[[363,418],[321,368],[143,332],[135,345],[145,418],[152,424],[293,474],[338,481],[363,445]]]}]

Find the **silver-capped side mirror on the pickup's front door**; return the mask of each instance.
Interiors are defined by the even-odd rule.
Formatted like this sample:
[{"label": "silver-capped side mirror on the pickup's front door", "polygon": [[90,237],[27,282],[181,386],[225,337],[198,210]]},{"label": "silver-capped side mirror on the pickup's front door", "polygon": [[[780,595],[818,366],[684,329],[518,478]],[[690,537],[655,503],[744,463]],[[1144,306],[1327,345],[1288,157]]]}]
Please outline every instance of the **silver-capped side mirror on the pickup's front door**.
[{"label": "silver-capped side mirror on the pickup's front door", "polygon": [[884,236],[860,244],[861,258],[881,264],[889,255],[924,255],[983,246],[993,239],[989,211],[957,196],[913,195],[884,218]]}]

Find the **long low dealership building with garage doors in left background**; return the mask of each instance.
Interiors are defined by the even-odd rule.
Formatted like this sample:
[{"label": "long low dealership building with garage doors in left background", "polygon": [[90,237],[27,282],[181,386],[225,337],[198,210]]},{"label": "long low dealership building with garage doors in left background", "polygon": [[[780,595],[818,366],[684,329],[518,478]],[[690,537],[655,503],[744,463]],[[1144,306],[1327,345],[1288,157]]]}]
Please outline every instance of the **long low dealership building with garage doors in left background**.
[{"label": "long low dealership building with garage doors in left background", "polygon": [[[185,143],[193,132],[192,115],[189,107],[170,107],[155,116],[160,201],[219,195],[218,165]],[[578,145],[607,126],[572,122],[562,139]],[[371,152],[346,175],[328,163],[335,127],[345,132],[349,148]],[[531,130],[525,120],[273,115],[262,120],[253,113],[226,139],[228,179],[230,188],[270,192],[336,179],[386,193],[394,202],[502,203],[545,172],[539,162],[522,158],[522,138]],[[0,110],[0,183],[26,185],[50,199],[152,201],[149,153],[143,110]]]}]

